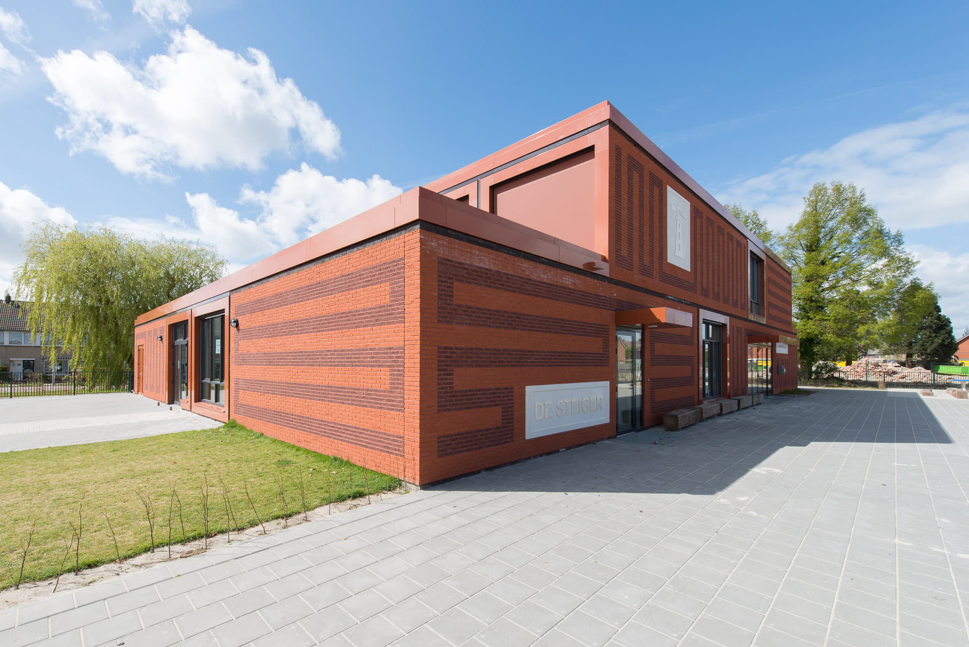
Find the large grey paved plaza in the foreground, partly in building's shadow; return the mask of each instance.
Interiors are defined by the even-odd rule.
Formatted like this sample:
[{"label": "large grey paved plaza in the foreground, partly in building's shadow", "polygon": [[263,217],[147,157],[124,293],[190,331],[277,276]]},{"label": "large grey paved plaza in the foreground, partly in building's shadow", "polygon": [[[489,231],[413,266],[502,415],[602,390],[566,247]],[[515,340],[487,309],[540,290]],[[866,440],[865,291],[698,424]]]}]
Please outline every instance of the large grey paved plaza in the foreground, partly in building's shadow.
[{"label": "large grey paved plaza in the foreground, partly in building's shadow", "polygon": [[0,645],[969,645],[969,401],[821,390],[0,611]]}]

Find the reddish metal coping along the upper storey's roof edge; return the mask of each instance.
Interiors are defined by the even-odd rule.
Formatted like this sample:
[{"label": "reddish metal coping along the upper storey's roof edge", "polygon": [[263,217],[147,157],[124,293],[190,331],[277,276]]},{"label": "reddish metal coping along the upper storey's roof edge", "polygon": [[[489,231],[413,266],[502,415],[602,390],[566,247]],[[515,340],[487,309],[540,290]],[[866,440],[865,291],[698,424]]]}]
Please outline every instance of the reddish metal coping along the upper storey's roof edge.
[{"label": "reddish metal coping along the upper storey's roof edge", "polygon": [[[631,122],[626,115],[615,108],[610,102],[604,101],[601,104],[597,104],[592,108],[587,108],[582,110],[578,114],[574,114],[568,119],[558,122],[553,126],[539,131],[535,135],[516,141],[510,146],[502,148],[496,153],[492,153],[487,157],[484,157],[477,162],[473,162],[463,169],[455,170],[452,173],[448,173],[444,177],[434,180],[433,182],[425,185],[428,189],[432,191],[444,191],[453,187],[454,185],[461,184],[473,177],[477,177],[489,170],[496,169],[502,165],[514,162],[516,159],[533,153],[540,148],[555,143],[560,139],[565,139],[571,135],[589,128],[590,126],[595,126],[601,124],[604,121],[611,121],[612,124],[618,128],[620,131],[626,134],[630,139],[633,139],[642,146],[642,148],[653,158],[659,162],[664,168],[670,171],[670,173],[676,177],[680,182],[687,186],[691,191],[693,191],[701,200],[709,204],[711,208],[717,211],[724,219],[726,219],[731,225],[733,225],[737,231],[740,231],[745,235],[751,242],[753,242],[759,249],[766,249],[764,241],[758,238],[752,231],[748,230],[747,227],[741,223],[733,213],[727,210],[723,204],[711,196],[706,189],[700,186],[700,183],[693,179],[689,173],[681,169],[679,165],[672,161],[669,155],[664,153],[659,146],[657,146],[653,141],[643,135],[642,131],[637,128],[633,122]],[[779,259],[774,258],[775,261],[780,262]],[[790,272],[790,268],[787,264],[780,262],[781,266]]]}]

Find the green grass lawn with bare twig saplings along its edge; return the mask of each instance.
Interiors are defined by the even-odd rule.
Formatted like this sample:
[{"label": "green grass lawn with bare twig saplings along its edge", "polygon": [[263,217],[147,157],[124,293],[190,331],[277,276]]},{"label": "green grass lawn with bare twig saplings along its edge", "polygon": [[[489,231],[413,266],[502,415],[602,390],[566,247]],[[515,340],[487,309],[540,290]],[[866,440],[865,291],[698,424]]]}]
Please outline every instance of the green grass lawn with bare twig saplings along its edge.
[{"label": "green grass lawn with bare twig saplings along its edge", "polygon": [[[148,550],[144,502],[157,547],[169,542],[170,518],[172,543],[202,537],[206,509],[209,535],[223,533],[229,525],[257,525],[253,505],[263,521],[300,512],[300,482],[306,509],[327,505],[330,492],[335,502],[363,496],[367,486],[375,493],[399,484],[396,478],[234,422],[150,438],[0,453],[0,589],[16,584],[35,521],[25,582],[74,570],[76,562],[83,569],[115,560],[118,554],[124,558]],[[177,499],[172,499],[172,490]]]}]

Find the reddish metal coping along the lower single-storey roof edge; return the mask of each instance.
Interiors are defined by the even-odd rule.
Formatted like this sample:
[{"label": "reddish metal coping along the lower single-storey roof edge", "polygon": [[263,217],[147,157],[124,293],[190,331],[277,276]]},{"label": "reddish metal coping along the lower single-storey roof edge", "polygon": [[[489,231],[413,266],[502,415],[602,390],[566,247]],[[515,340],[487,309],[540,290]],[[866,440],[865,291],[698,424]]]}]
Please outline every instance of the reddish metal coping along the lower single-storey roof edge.
[{"label": "reddish metal coping along the lower single-storey roof edge", "polygon": [[326,231],[297,242],[262,261],[243,267],[199,290],[150,310],[140,315],[135,320],[135,325],[194,307],[203,301],[291,269],[303,262],[319,259],[367,238],[418,220],[467,233],[550,261],[562,262],[609,276],[609,263],[605,262],[600,254],[452,200],[429,189],[418,187],[334,225]]}]

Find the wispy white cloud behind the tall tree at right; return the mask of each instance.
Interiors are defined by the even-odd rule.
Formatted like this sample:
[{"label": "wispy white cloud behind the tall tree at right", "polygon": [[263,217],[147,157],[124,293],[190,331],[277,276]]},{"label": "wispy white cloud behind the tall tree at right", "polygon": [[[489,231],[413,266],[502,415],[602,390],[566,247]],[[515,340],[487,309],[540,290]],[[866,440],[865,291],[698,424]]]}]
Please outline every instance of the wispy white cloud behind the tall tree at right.
[{"label": "wispy white cloud behind the tall tree at right", "polygon": [[891,229],[969,222],[969,109],[953,107],[913,121],[862,131],[784,160],[735,183],[721,201],[757,208],[774,229],[797,220],[815,182],[863,188]]}]

